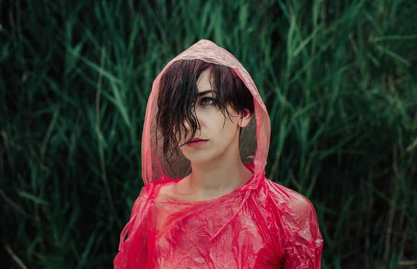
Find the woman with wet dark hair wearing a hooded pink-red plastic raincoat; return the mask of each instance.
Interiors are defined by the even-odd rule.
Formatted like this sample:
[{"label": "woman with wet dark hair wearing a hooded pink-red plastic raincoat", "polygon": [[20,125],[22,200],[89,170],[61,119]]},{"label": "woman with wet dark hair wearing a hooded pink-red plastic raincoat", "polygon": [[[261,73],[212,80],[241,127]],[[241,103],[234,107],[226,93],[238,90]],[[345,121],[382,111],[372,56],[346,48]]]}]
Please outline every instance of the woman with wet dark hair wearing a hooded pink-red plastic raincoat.
[{"label": "woman with wet dark hair wearing a hooded pink-red plastic raincoat", "polygon": [[308,199],[265,178],[268,112],[228,51],[200,40],[154,81],[145,187],[115,268],[320,268]]}]

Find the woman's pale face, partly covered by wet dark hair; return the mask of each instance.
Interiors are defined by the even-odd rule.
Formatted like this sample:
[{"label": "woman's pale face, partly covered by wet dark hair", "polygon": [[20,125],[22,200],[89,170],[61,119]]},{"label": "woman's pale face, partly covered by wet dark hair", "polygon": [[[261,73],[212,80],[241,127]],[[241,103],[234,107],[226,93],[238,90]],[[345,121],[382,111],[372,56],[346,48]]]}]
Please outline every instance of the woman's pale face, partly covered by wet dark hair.
[{"label": "woman's pale face, partly covered by wet dark hair", "polygon": [[[210,71],[206,70],[202,72],[197,83],[200,96],[195,106],[195,114],[199,121],[199,129],[197,129],[193,140],[199,141],[181,146],[184,156],[196,163],[213,161],[220,158],[229,149],[236,150],[236,147],[232,145],[236,145],[238,142],[239,129],[249,123],[247,117],[243,117],[241,121],[240,115],[232,108],[229,108],[230,119],[229,116],[224,117],[222,111],[219,111],[215,106],[216,94],[215,90],[211,88],[209,79]],[[186,141],[190,140],[189,135],[190,133],[188,133]]]}]

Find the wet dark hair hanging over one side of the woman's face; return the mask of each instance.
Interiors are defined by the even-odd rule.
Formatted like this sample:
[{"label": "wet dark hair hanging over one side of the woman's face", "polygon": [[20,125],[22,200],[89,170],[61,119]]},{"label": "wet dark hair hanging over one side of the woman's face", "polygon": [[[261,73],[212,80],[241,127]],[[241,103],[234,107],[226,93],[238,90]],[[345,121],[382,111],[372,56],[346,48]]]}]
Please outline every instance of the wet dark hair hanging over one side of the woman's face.
[{"label": "wet dark hair hanging over one side of the woman's face", "polygon": [[[205,70],[210,70],[209,81],[215,90],[215,106],[230,119],[228,107],[233,108],[239,115],[247,111],[254,113],[254,99],[245,83],[230,67],[207,63],[204,60],[177,60],[165,70],[161,76],[158,92],[158,113],[156,125],[159,136],[163,138],[163,154],[168,163],[173,163],[179,157],[179,146],[186,141],[190,132],[193,139],[199,122],[195,115],[196,101],[199,97],[197,81]],[[190,127],[187,133],[186,125]]]}]

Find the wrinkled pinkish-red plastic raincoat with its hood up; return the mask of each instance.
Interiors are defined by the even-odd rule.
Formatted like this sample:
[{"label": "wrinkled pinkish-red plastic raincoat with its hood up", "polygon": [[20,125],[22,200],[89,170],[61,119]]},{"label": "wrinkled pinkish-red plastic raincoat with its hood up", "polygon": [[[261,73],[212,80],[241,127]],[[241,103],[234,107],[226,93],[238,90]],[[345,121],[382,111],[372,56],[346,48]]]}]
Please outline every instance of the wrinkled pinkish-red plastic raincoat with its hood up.
[{"label": "wrinkled pinkish-red plastic raincoat with its hood up", "polygon": [[[156,143],[159,80],[175,60],[201,59],[231,67],[254,97],[254,115],[240,136],[240,154],[253,177],[232,193],[202,202],[156,202],[164,184],[190,173],[180,158],[167,165]],[[225,49],[200,40],[155,79],[142,135],[145,187],[120,236],[115,268],[320,268],[322,236],[304,196],[265,178],[270,120],[254,81]]]}]

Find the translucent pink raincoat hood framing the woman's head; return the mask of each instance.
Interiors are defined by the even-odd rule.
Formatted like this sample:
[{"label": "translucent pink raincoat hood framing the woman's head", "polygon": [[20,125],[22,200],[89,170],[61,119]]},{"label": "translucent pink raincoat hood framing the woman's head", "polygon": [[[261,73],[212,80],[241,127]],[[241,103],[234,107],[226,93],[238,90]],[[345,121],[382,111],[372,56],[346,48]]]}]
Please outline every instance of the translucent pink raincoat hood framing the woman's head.
[{"label": "translucent pink raincoat hood framing the woman's head", "polygon": [[161,76],[165,70],[174,61],[195,59],[231,67],[252,93],[254,97],[254,117],[251,117],[249,126],[242,130],[239,145],[243,163],[253,162],[254,181],[259,181],[265,172],[270,142],[270,119],[265,104],[263,104],[250,74],[229,51],[218,47],[218,45],[209,40],[200,40],[171,60],[156,77],[152,85],[142,135],[142,178],[145,186],[149,186],[153,181],[163,179],[164,177],[170,179],[186,177],[190,172],[190,162],[185,157],[179,158],[174,165],[168,165],[165,161],[161,148],[162,138],[158,138],[158,141],[156,141],[158,137],[156,113],[158,112],[158,89]]}]

